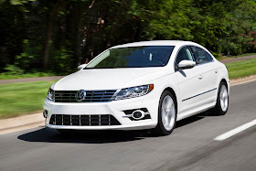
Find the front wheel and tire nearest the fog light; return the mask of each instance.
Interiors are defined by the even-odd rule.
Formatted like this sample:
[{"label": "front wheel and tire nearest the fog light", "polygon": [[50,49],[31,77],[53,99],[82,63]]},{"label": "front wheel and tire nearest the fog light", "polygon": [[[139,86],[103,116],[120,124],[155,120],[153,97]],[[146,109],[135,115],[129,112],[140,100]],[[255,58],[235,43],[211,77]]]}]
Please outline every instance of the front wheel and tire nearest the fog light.
[{"label": "front wheel and tire nearest the fog light", "polygon": [[158,106],[158,123],[155,134],[163,136],[173,132],[176,126],[176,100],[170,91],[164,91]]}]

